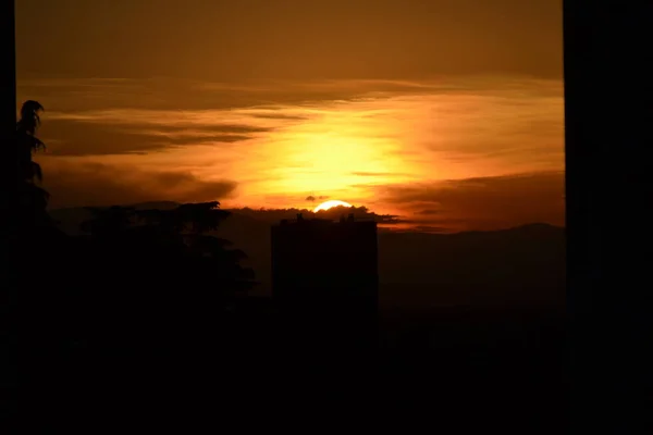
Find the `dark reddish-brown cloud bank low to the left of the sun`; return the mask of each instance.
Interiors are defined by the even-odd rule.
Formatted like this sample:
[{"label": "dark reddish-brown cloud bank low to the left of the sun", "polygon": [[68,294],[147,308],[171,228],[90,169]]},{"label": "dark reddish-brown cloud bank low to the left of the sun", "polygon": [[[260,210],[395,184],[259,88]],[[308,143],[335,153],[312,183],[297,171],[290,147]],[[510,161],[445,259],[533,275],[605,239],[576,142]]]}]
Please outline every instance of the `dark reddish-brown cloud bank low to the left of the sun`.
[{"label": "dark reddish-brown cloud bank low to the left of the sun", "polygon": [[221,200],[234,194],[231,181],[202,181],[188,172],[141,171],[99,163],[41,163],[44,187],[50,192],[50,207],[130,204],[169,200],[200,202]]}]

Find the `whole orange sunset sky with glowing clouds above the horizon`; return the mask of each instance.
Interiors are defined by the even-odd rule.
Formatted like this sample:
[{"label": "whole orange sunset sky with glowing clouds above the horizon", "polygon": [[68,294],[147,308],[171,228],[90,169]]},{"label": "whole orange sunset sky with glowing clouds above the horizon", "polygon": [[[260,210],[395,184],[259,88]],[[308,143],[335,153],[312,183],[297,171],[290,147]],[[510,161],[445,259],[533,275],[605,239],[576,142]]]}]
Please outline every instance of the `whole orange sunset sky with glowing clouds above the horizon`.
[{"label": "whole orange sunset sky with glowing clouds above the horizon", "polygon": [[564,223],[555,0],[20,0],[51,207],[340,199]]}]

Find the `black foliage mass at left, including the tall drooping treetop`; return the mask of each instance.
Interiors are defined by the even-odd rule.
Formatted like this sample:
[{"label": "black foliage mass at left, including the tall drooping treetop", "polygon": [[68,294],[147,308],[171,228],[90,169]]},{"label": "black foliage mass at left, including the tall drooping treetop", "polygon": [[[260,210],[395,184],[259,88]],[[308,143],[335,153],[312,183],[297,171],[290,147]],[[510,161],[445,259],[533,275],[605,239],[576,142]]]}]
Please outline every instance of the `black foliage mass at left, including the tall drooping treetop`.
[{"label": "black foliage mass at left, including the tall drooping treetop", "polygon": [[[49,217],[33,161],[45,148],[36,137],[42,110],[26,101],[16,124],[19,263],[29,341],[161,348],[215,336],[227,308],[255,285],[254,272],[239,264],[245,253],[207,234],[230,213],[217,201],[173,210],[89,208],[86,234],[65,235]],[[44,324],[47,331],[38,327]]]}]

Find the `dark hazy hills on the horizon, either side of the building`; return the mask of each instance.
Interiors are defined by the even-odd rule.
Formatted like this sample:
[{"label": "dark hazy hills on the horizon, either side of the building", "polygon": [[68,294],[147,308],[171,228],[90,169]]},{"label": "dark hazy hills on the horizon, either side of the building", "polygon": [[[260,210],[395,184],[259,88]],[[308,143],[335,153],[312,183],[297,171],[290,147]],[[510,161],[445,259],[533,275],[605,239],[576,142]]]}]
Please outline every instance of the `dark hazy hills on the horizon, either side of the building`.
[{"label": "dark hazy hills on the horizon, either side of the building", "polygon": [[[137,210],[177,207],[172,201],[132,204]],[[254,295],[271,293],[270,226],[283,211],[227,210],[210,234],[247,252],[243,264],[260,283]],[[85,209],[57,209],[50,215],[67,234],[82,234]],[[535,249],[533,249],[533,246]],[[565,302],[565,231],[528,224],[491,232],[379,233],[379,302],[382,311],[452,306],[562,307]]]}]

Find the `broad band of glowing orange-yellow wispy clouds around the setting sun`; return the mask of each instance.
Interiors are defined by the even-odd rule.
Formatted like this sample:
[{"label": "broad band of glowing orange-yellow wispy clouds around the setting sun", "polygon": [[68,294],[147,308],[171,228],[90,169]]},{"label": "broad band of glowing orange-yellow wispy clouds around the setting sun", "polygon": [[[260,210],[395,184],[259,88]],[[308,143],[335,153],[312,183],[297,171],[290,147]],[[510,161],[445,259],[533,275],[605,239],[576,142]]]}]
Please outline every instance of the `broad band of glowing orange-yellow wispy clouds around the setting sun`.
[{"label": "broad band of glowing orange-yellow wispy clouds around the setting sun", "polygon": [[[148,200],[176,200],[204,197],[189,186],[219,175],[238,181],[229,194],[238,206],[300,207],[320,191],[440,228],[559,221],[557,203],[547,211],[533,198],[553,203],[558,182],[544,174],[564,165],[562,89],[501,76],[237,86],[157,78],[23,80],[20,96],[46,107],[40,136],[50,154],[39,159],[67,165],[57,177],[93,177],[74,166],[100,164],[109,190],[128,196],[116,187],[134,179],[123,167],[193,174],[170,195],[148,184],[163,196]],[[512,173],[538,174],[550,190],[501,177]],[[84,198],[66,183],[56,189],[61,203]]]}]

